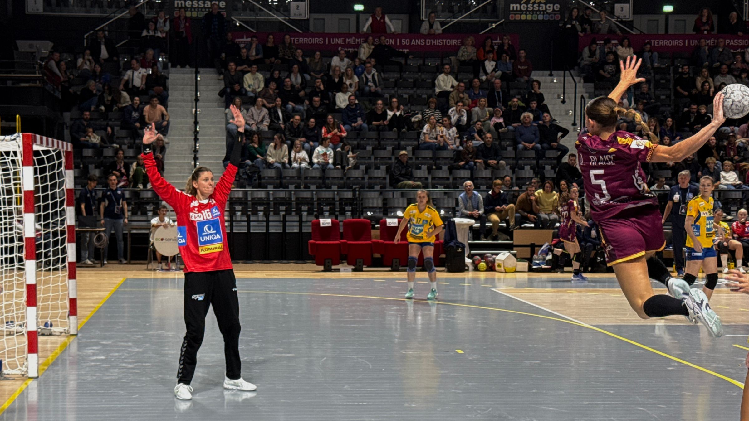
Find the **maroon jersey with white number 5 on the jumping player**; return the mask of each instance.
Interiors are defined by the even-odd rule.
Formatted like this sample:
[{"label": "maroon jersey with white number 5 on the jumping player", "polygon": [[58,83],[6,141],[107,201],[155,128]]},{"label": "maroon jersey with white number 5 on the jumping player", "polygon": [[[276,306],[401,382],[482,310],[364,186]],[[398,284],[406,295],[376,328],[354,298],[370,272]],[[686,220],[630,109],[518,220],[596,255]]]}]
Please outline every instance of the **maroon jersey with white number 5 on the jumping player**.
[{"label": "maroon jersey with white number 5 on the jumping player", "polygon": [[657,146],[625,131],[617,131],[606,140],[580,133],[575,148],[593,220],[598,222],[637,206],[658,206],[640,166],[650,161]]}]

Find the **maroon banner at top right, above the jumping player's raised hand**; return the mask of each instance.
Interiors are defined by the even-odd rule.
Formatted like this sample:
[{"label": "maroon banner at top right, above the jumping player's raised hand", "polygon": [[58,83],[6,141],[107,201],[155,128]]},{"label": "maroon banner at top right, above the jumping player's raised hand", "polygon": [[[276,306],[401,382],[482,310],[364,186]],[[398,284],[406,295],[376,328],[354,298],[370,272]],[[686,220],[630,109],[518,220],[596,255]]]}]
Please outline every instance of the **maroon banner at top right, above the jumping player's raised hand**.
[{"label": "maroon banner at top right, above the jumping player's raised hand", "polygon": [[[657,52],[692,52],[698,45],[700,45],[700,40],[703,38],[707,40],[707,45],[710,48],[718,45],[718,38],[726,40],[726,46],[733,51],[745,49],[749,46],[749,37],[739,37],[738,35],[629,34],[625,36],[629,38],[635,52],[640,51],[646,41],[650,41],[652,49]],[[602,46],[605,38],[610,38],[613,43],[618,43],[622,37],[624,36],[615,34],[587,34],[580,37],[578,40],[577,50],[583,51],[586,46],[590,45],[590,40],[592,38],[595,38],[595,40],[598,41],[598,46]]]}]

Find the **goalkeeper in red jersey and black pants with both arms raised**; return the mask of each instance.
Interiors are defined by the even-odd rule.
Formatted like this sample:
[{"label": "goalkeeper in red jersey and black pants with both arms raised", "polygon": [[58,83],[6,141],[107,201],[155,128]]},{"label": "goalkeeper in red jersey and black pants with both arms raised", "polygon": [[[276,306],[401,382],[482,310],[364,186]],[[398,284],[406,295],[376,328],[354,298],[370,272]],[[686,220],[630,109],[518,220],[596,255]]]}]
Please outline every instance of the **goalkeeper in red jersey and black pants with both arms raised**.
[{"label": "goalkeeper in red jersey and black pants with both arms raised", "polygon": [[198,349],[203,342],[205,316],[209,306],[213,306],[219,330],[224,337],[224,388],[247,391],[257,389],[241,376],[237,281],[231,267],[224,224],[226,199],[237,174],[244,134],[244,118],[239,109],[231,106],[231,113],[234,115],[231,122],[239,127],[237,131],[240,136],[234,142],[224,174],[214,185],[210,169],[199,166],[187,181],[186,193],[167,183],[157,170],[151,153],[151,142],[157,137],[153,124],[150,130],[145,130],[143,136],[142,157],[148,179],[154,191],[177,214],[177,243],[184,260],[184,318],[187,333],[180,351],[175,387],[177,399],[192,399],[190,382],[195,373]]}]

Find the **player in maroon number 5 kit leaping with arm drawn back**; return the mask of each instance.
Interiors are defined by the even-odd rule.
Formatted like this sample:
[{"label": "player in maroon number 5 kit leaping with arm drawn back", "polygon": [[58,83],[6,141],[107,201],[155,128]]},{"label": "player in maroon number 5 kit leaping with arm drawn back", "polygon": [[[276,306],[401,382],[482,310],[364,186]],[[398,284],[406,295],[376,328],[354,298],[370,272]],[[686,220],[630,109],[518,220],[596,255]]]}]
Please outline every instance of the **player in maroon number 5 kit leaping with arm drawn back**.
[{"label": "player in maroon number 5 kit leaping with arm drawn back", "polygon": [[[694,136],[673,146],[650,142],[640,115],[616,103],[631,85],[645,82],[637,78],[642,60],[628,57],[619,62],[621,78],[608,97],[591,100],[585,109],[586,130],[575,146],[580,156],[586,198],[593,220],[601,227],[601,242],[607,264],[613,266],[616,279],[630,306],[640,318],[684,315],[689,321],[704,324],[713,336],[721,336],[721,319],[710,308],[705,293],[690,289],[683,279],[671,278],[655,252],[664,248],[663,225],[658,199],[646,185],[640,163],[679,162],[697,152],[723,124],[723,95],[715,95],[713,119]],[[616,130],[616,121],[626,115],[643,127],[649,139]],[[680,250],[675,250],[680,252]],[[649,278],[663,282],[671,296],[654,294]]]}]

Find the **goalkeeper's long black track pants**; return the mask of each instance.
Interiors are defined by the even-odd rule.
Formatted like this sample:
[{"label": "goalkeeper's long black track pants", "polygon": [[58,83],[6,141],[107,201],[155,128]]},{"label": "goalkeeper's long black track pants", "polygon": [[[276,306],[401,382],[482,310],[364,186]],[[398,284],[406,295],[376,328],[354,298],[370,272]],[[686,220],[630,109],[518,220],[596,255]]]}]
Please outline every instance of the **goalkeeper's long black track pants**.
[{"label": "goalkeeper's long black track pants", "polygon": [[195,374],[198,349],[203,343],[205,316],[208,307],[213,306],[213,314],[219,323],[224,337],[226,357],[226,377],[236,380],[241,376],[242,363],[239,358],[239,300],[237,280],[234,270],[211,270],[210,272],[185,273],[184,317],[185,333],[180,350],[180,364],[177,382],[190,384]]}]

